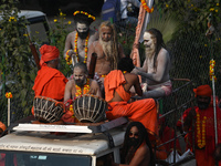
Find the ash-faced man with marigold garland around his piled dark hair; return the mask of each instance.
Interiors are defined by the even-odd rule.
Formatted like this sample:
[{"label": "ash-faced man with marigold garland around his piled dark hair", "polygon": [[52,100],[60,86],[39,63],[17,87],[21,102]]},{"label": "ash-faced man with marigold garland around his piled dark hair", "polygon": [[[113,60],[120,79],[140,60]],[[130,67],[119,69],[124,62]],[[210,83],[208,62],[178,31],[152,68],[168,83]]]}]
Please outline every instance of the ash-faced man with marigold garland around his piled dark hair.
[{"label": "ash-faced man with marigold garland around his piled dark hair", "polygon": [[65,41],[64,58],[72,59],[72,64],[77,62],[86,63],[88,46],[98,39],[98,33],[90,29],[95,17],[85,11],[75,11],[74,21],[76,30],[69,33]]}]

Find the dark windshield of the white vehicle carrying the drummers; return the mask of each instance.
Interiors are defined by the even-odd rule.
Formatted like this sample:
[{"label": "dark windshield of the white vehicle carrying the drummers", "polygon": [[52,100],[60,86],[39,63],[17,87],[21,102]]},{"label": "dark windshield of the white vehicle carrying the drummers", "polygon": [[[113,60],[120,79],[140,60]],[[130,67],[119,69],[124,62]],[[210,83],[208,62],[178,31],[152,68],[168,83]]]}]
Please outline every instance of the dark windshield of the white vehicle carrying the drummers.
[{"label": "dark windshield of the white vehicle carrying the drummers", "polygon": [[90,156],[0,152],[0,166],[91,166]]}]

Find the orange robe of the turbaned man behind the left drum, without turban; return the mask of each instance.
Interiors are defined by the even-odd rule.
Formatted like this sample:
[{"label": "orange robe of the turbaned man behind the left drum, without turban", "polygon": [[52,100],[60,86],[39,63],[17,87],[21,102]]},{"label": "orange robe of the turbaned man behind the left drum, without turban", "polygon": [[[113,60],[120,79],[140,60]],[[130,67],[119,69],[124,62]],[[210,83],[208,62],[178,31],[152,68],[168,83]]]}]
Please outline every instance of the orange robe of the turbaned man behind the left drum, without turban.
[{"label": "orange robe of the turbaned man behind the left drum, without turban", "polygon": [[56,101],[63,101],[67,79],[56,69],[42,66],[34,81],[35,96],[42,95]]}]

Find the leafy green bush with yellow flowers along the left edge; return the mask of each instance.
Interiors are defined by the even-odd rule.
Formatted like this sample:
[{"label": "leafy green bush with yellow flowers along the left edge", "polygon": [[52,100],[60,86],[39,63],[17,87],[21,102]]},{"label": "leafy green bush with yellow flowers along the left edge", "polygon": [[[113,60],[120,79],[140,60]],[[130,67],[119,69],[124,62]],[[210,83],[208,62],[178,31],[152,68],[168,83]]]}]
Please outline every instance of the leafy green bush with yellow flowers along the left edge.
[{"label": "leafy green bush with yellow flowers along the left edge", "polygon": [[[6,115],[7,100],[4,93],[11,92],[11,110],[17,120],[29,115],[32,107],[34,93],[32,91],[33,81],[36,75],[36,68],[29,48],[28,34],[25,31],[24,18],[19,18],[18,0],[2,0],[0,11],[0,70],[1,82],[1,115]],[[10,83],[10,84],[8,84]],[[6,123],[7,117],[1,116]]]}]

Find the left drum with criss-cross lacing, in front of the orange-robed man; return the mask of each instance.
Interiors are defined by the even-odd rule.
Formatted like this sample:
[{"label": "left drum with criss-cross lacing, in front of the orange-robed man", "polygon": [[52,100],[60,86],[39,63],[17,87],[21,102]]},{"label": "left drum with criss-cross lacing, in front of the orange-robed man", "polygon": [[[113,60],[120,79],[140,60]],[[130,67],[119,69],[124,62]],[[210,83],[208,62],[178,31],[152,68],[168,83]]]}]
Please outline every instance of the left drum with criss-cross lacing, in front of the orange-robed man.
[{"label": "left drum with criss-cross lacing, in front of the orange-robed man", "polygon": [[33,101],[34,117],[43,123],[60,121],[65,112],[64,104],[45,96],[35,96]]}]

